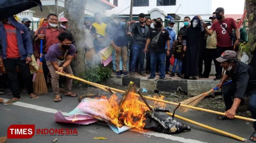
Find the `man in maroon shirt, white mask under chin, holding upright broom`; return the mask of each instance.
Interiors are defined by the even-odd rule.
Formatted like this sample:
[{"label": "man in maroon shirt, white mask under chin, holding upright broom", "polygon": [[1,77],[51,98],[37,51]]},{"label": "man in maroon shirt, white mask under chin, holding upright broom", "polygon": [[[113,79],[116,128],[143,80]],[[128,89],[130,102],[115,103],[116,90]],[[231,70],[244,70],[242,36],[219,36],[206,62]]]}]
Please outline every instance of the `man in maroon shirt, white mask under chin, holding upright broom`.
[{"label": "man in maroon shirt, white mask under chin, holding upright broom", "polygon": [[[58,28],[58,16],[56,14],[50,13],[47,16],[47,26],[40,27],[34,36],[34,42],[40,45],[40,39],[43,39],[43,53],[42,53],[42,62],[43,62],[43,70],[44,70],[44,78],[45,82],[47,83],[47,75],[48,75],[48,68],[45,61],[45,54],[48,52],[49,47],[59,42],[58,35],[61,32],[64,32],[64,29]],[[42,33],[41,33],[42,32]],[[38,51],[34,51],[36,54],[39,55],[40,47],[37,48]]]}]

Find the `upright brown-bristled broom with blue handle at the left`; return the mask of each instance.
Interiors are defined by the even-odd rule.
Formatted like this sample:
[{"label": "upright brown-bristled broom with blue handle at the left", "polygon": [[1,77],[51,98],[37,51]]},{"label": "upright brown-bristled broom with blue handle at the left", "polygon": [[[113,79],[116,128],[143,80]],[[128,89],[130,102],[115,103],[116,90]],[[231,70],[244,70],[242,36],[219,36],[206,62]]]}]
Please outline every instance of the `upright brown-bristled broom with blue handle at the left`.
[{"label": "upright brown-bristled broom with blue handle at the left", "polygon": [[[41,34],[43,34],[43,31],[41,31]],[[43,52],[43,39],[40,39],[40,63],[39,63],[38,71],[36,73],[36,79],[33,84],[34,92],[36,94],[48,93],[48,89],[44,79],[42,52]]]}]

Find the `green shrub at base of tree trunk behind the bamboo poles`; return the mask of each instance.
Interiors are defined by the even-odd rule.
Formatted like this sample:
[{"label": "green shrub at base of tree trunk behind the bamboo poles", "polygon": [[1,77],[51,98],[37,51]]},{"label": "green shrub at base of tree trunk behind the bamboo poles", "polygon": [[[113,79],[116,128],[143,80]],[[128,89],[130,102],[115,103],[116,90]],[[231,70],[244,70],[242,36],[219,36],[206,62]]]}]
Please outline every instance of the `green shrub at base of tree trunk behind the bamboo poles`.
[{"label": "green shrub at base of tree trunk behind the bamboo poles", "polygon": [[[87,69],[82,75],[83,79],[94,83],[102,83],[105,79],[109,78],[112,74],[112,70],[105,66],[93,66]],[[85,84],[85,86],[88,86]]]}]

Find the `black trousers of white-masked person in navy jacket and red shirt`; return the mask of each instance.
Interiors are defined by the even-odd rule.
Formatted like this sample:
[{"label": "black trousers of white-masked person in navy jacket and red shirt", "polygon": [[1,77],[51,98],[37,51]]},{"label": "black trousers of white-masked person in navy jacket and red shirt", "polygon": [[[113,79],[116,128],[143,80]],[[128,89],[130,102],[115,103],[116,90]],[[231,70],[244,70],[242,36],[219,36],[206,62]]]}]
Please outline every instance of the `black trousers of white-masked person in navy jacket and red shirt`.
[{"label": "black trousers of white-masked person in navy jacket and red shirt", "polygon": [[13,97],[20,98],[18,74],[16,71],[17,66],[22,74],[23,81],[26,85],[28,94],[33,93],[33,84],[29,64],[26,64],[26,60],[20,60],[20,58],[4,59],[5,71],[8,75],[8,82],[10,83],[10,89],[13,92]]}]

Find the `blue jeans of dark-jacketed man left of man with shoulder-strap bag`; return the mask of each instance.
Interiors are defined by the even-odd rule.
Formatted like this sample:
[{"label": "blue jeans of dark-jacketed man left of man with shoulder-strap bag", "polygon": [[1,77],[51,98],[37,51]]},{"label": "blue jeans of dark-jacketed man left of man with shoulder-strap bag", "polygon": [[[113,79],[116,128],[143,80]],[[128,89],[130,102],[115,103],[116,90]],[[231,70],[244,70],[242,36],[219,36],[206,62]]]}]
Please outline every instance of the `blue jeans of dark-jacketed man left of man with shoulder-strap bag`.
[{"label": "blue jeans of dark-jacketed man left of man with shoulder-strap bag", "polygon": [[131,70],[132,72],[135,71],[135,66],[136,66],[136,60],[139,58],[140,60],[140,71],[143,71],[143,64],[144,64],[144,58],[145,58],[145,53],[144,53],[144,48],[145,46],[140,46],[140,45],[133,45],[133,57],[131,61]]}]

